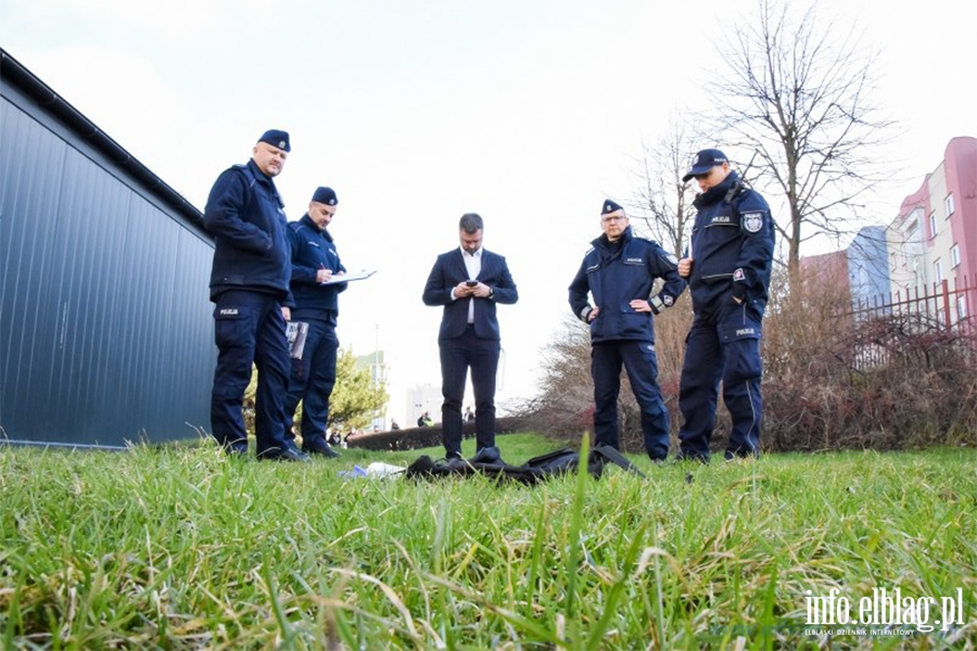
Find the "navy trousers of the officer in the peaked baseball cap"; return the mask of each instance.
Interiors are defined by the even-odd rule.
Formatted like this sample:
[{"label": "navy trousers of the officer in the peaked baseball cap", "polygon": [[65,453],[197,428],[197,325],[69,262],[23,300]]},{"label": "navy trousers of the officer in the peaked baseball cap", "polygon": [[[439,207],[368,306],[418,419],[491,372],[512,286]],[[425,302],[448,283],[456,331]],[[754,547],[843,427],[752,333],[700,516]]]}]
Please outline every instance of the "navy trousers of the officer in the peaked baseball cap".
[{"label": "navy trousers of the officer in the peaked baseball cap", "polygon": [[709,460],[720,381],[733,429],[726,459],[760,455],[763,397],[760,393],[760,315],[728,296],[719,310],[697,314],[685,340],[678,408],[681,457]]}]

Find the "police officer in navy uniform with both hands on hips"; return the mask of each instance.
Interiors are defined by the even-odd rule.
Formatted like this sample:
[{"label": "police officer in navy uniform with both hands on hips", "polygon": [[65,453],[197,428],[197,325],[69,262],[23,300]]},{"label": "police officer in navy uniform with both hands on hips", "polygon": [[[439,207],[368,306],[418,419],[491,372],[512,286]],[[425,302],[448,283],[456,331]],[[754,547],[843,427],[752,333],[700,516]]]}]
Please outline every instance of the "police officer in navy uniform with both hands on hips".
[{"label": "police officer in navy uniform with both hands on hips", "polygon": [[[618,449],[623,365],[642,410],[645,450],[652,461],[663,461],[669,455],[669,412],[657,381],[652,315],[672,306],[685,281],[675,256],[634,235],[624,208],[607,200],[600,212],[604,234],[593,241],[570,284],[570,307],[591,328],[595,444]],[[652,294],[659,278],[664,283]]]}]

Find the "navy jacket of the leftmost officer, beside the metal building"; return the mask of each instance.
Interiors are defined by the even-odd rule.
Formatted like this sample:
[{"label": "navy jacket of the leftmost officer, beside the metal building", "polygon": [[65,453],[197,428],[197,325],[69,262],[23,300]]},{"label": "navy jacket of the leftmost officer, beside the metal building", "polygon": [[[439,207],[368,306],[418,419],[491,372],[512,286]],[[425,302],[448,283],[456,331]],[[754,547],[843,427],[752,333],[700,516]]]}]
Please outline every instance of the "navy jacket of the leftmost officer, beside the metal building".
[{"label": "navy jacket of the leftmost officer, beside the metal building", "polygon": [[228,290],[288,301],[291,265],[282,207],[274,181],[253,159],[217,177],[204,208],[204,227],[215,241],[212,301]]}]

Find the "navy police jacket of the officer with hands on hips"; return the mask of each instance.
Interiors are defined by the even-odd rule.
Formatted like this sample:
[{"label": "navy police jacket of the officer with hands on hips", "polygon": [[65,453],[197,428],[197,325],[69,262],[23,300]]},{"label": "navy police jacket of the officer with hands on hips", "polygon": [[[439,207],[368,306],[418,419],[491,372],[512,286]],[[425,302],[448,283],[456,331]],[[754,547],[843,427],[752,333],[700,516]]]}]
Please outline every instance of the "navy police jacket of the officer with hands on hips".
[{"label": "navy police jacket of the officer with hands on hips", "polygon": [[[583,264],[570,284],[570,307],[584,322],[591,311],[587,293],[600,311],[591,322],[591,341],[655,341],[651,315],[635,311],[635,298],[651,299],[662,308],[670,307],[685,289],[678,276],[677,260],[657,242],[635,238],[631,227],[617,242],[600,235],[584,255]],[[661,291],[651,296],[655,279],[664,280]]]}]

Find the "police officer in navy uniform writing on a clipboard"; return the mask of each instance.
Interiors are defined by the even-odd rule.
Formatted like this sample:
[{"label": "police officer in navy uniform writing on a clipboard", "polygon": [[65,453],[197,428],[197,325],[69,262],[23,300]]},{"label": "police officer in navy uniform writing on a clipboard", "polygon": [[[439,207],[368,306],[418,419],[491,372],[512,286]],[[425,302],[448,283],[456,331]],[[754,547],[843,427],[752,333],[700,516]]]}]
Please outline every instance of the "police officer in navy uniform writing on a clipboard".
[{"label": "police officer in navy uniform writing on a clipboard", "polygon": [[[346,289],[345,282],[329,282],[346,272],[327,230],[338,204],[332,188],[316,189],[308,212],[299,221],[289,224],[288,230],[292,251],[292,320],[308,323],[308,332],[301,358],[292,359],[286,413],[289,419],[294,418],[302,400],[302,450],[322,457],[340,456],[326,441],[339,350],[338,296]],[[291,427],[286,436],[294,439]]]}]

